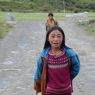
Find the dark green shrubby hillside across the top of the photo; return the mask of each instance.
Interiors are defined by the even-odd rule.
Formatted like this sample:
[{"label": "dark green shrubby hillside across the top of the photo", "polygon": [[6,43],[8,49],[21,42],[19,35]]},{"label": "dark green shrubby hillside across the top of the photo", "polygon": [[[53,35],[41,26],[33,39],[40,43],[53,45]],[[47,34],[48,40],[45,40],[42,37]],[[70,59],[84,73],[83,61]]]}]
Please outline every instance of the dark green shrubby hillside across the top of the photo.
[{"label": "dark green shrubby hillside across the top of the photo", "polygon": [[94,0],[0,0],[1,11],[63,12],[95,11]]}]

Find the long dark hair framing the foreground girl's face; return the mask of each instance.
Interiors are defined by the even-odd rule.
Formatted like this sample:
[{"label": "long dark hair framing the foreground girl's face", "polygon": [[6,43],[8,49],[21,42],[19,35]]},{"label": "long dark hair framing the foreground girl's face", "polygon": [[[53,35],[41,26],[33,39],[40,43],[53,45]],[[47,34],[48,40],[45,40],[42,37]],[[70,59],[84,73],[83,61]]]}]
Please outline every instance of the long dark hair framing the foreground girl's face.
[{"label": "long dark hair framing the foreground girl's face", "polygon": [[64,34],[64,31],[62,30],[61,27],[59,27],[59,26],[54,26],[54,27],[52,27],[52,28],[47,32],[47,34],[46,34],[46,40],[45,40],[45,44],[44,44],[44,48],[43,48],[43,49],[48,48],[48,47],[51,46],[50,43],[49,43],[49,41],[48,41],[48,38],[49,38],[50,33],[51,33],[52,31],[54,31],[54,30],[58,30],[58,31],[60,31],[60,32],[62,33],[63,41],[62,41],[62,44],[61,44],[61,48],[62,48],[62,47],[66,47],[66,46],[65,46],[65,34]]}]

